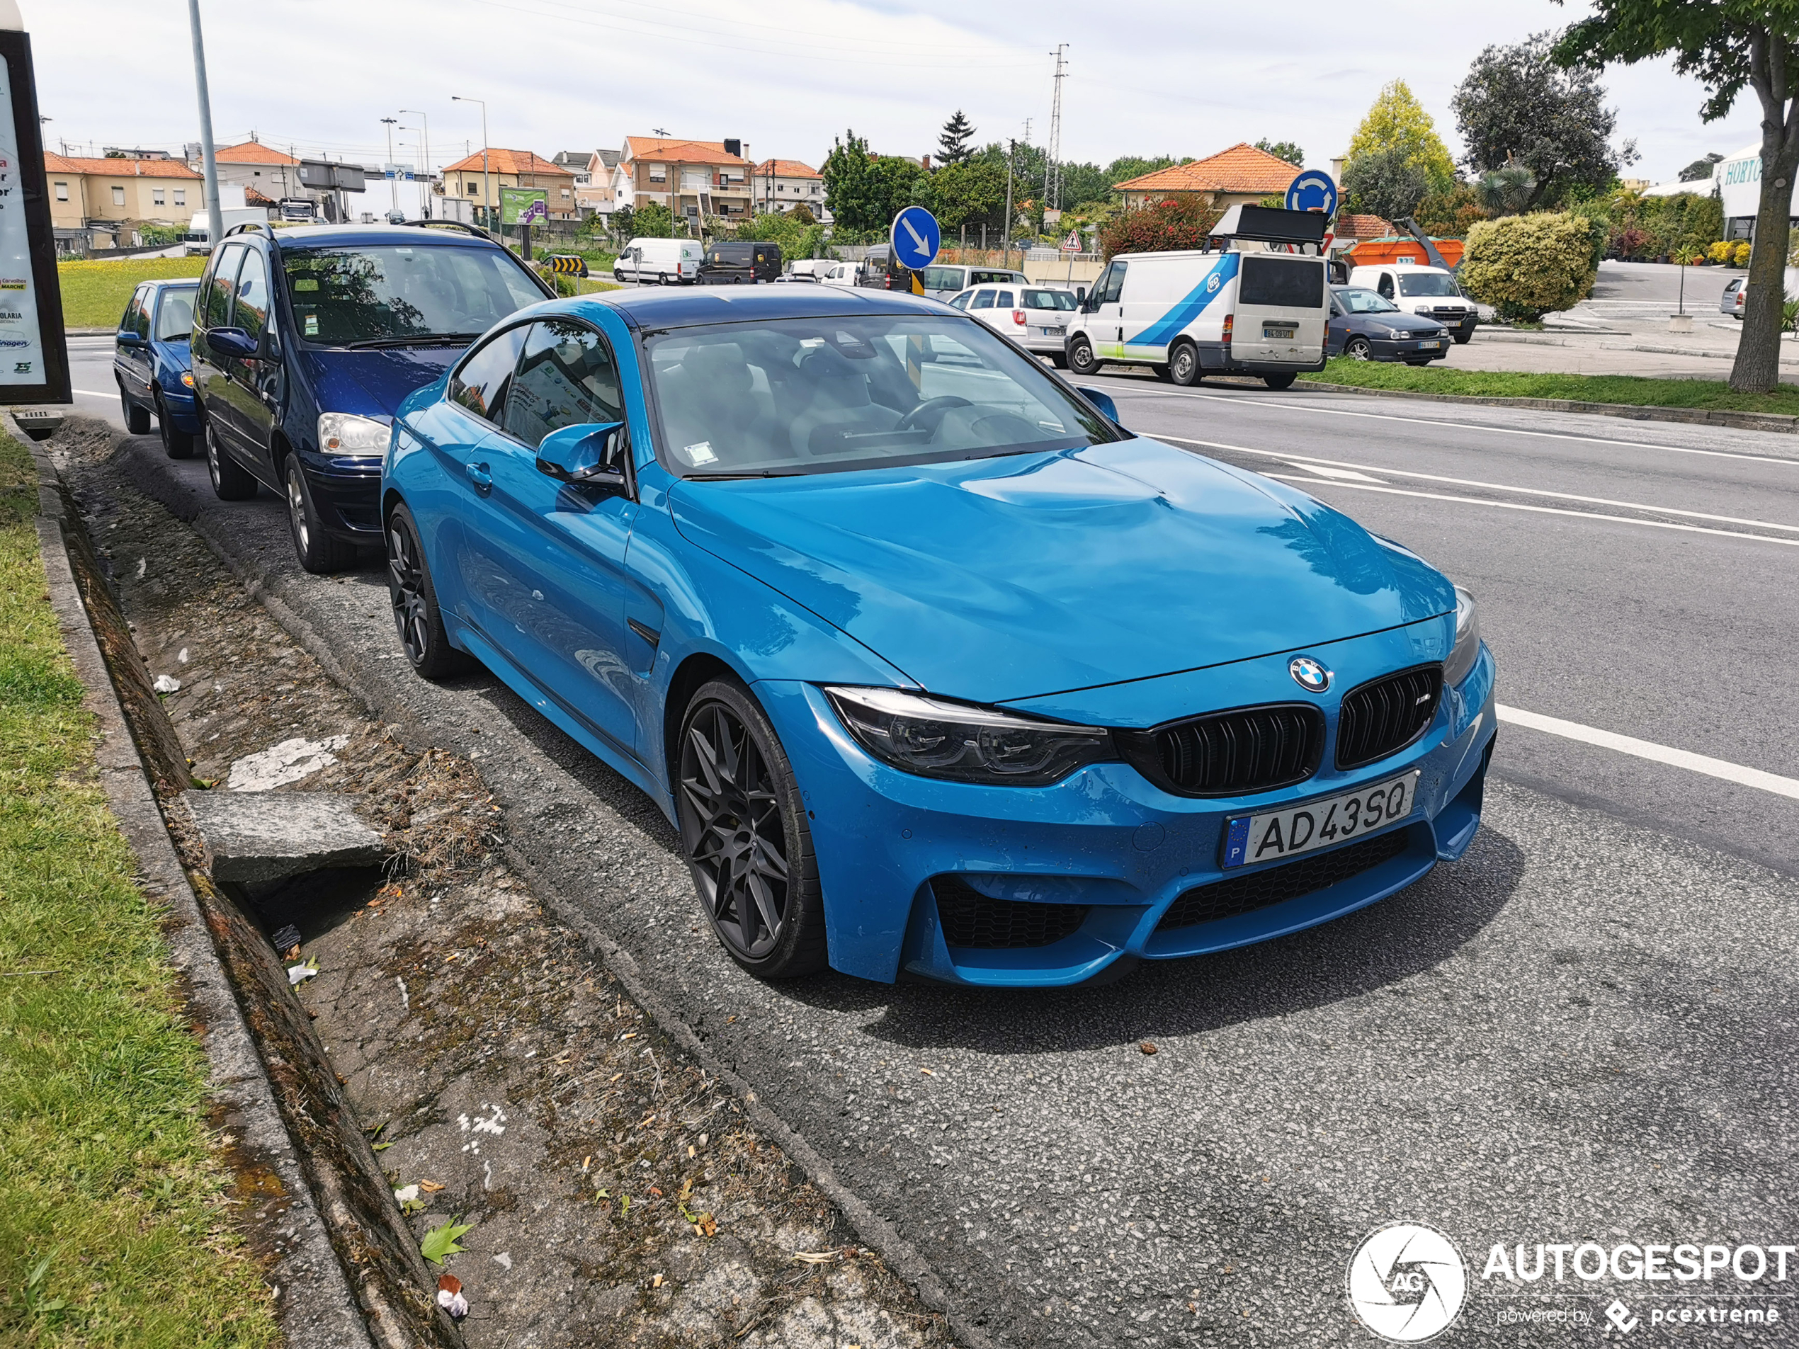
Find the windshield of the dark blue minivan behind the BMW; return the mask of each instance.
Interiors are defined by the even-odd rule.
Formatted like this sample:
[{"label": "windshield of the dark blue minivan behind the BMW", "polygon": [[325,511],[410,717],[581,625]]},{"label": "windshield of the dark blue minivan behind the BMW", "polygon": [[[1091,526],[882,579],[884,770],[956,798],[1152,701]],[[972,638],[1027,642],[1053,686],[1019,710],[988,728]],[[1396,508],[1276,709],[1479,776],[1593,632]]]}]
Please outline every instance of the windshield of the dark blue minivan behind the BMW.
[{"label": "windshield of the dark blue minivan behind the BMW", "polygon": [[473,338],[543,299],[498,248],[284,248],[300,336],[333,347]]}]

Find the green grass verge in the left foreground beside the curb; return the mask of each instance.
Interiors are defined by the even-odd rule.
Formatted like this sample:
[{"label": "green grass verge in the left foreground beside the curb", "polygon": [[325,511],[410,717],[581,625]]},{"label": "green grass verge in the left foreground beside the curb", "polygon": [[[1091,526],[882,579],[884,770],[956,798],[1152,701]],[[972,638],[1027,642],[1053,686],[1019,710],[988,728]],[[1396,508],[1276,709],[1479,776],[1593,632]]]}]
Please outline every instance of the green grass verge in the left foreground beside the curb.
[{"label": "green grass verge in the left foreground beside the curb", "polygon": [[0,437],[0,1345],[268,1345],[205,1059],[95,781],[34,507],[31,457]]}]

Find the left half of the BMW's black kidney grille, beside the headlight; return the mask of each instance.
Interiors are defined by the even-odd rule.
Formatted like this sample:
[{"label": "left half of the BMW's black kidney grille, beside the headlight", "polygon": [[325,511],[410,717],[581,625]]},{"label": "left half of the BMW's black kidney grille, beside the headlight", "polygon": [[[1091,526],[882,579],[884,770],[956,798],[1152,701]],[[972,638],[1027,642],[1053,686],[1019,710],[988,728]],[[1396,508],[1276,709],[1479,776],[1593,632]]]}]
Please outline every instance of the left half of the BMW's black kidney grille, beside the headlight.
[{"label": "left half of the BMW's black kidney grille, beside the headlight", "polygon": [[1137,770],[1168,791],[1234,797],[1311,777],[1322,757],[1324,716],[1306,703],[1270,703],[1119,732],[1117,739]]}]

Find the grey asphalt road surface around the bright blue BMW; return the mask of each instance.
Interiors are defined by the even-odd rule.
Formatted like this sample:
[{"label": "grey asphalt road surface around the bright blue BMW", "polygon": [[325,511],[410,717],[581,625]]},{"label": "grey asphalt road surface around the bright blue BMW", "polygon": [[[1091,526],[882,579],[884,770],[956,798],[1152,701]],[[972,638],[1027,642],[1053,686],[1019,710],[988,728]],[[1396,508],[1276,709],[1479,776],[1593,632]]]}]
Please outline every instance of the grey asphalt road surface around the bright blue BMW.
[{"label": "grey asphalt road surface around the bright blue BMW", "polygon": [[[747,978],[702,932],[655,806],[493,680],[416,680],[378,568],[304,576],[272,496],[216,502],[153,437],[119,464],[387,714],[480,763],[536,883],[621,943],[993,1340],[1371,1344],[1344,1277],[1394,1219],[1468,1259],[1441,1344],[1598,1340],[1614,1299],[1650,1344],[1669,1335],[1653,1308],[1752,1293],[1799,1317],[1794,1282],[1482,1277],[1493,1243],[1799,1232],[1799,802],[1781,795],[1799,441],[1096,383],[1126,424],[1279,473],[1472,586],[1500,701],[1572,730],[1502,723],[1481,836],[1410,890],[1072,991]],[[1635,752],[1571,739],[1589,732]],[[1508,1320],[1542,1311],[1587,1324]],[[1682,1329],[1790,1342],[1786,1322]]]}]

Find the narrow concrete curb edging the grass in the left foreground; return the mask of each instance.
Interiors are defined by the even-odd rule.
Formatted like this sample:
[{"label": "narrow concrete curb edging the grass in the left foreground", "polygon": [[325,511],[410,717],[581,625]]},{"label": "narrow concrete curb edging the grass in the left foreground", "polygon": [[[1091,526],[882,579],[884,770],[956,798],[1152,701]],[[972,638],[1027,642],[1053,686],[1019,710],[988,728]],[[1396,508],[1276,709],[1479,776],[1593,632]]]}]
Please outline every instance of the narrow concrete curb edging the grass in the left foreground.
[{"label": "narrow concrete curb edging the grass in the left foreground", "polygon": [[50,606],[76,674],[88,691],[85,705],[99,721],[94,754],[101,786],[137,858],[139,887],[153,903],[167,907],[164,941],[200,1029],[212,1097],[241,1146],[266,1164],[286,1191],[282,1218],[293,1228],[291,1245],[273,1257],[268,1270],[275,1281],[281,1333],[291,1349],[374,1349],[94,637],[63,538],[65,529],[81,525],[67,516],[61,480],[43,446],[31,441],[11,415],[5,428],[31,450],[38,468],[38,552]]}]

